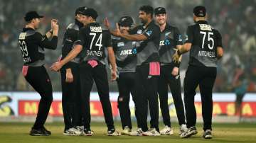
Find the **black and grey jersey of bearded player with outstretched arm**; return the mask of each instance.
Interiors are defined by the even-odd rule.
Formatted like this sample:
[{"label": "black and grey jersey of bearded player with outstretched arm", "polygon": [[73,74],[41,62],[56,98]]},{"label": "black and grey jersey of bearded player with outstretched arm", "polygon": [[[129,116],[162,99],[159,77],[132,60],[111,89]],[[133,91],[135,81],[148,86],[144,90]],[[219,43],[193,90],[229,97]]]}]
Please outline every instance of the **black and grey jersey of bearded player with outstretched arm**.
[{"label": "black and grey jersey of bearded player with outstretched arm", "polygon": [[137,42],[137,66],[149,64],[149,62],[159,62],[159,40],[160,28],[151,21],[149,25],[139,25],[132,31],[137,34],[143,34],[148,39]]}]

